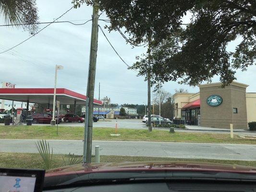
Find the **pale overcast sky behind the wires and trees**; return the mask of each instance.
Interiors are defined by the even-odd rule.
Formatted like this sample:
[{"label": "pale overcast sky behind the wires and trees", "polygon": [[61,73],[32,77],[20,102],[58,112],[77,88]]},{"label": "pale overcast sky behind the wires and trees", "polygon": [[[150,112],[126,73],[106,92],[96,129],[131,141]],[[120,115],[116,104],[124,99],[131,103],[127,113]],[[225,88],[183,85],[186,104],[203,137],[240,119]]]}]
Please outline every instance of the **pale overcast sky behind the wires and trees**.
[{"label": "pale overcast sky behind the wires and trees", "polygon": [[[51,22],[72,7],[71,0],[37,0],[40,22]],[[84,23],[91,19],[92,7],[86,5],[73,9],[59,21]],[[103,13],[100,19],[106,19]],[[82,20],[82,21],[74,21]],[[1,17],[1,24],[4,24]],[[99,21],[102,27],[105,25]],[[43,28],[46,24],[41,24]],[[103,28],[114,48],[129,65],[135,61],[135,56],[146,52],[146,48],[126,44],[118,32],[109,33]],[[51,24],[42,32],[32,37],[12,51],[0,54],[0,82],[11,82],[16,87],[53,87],[55,65],[63,65],[58,72],[57,87],[67,88],[85,94],[89,63],[91,22],[85,25],[68,23]],[[30,34],[22,28],[1,27],[0,50],[11,48],[20,43]],[[234,50],[237,42],[229,45]],[[237,81],[249,84],[247,92],[256,92],[256,66],[251,66],[246,72],[236,73]],[[112,50],[109,43],[99,30],[98,57],[96,72],[95,98],[98,98],[100,82],[100,98],[109,96],[112,103],[143,104],[147,101],[147,84],[144,77],[136,77],[136,73],[127,70],[127,66]],[[213,82],[219,82],[215,77]],[[198,92],[198,87],[180,85],[176,82],[165,83],[163,88],[174,93],[175,88],[185,88],[189,92]]]}]

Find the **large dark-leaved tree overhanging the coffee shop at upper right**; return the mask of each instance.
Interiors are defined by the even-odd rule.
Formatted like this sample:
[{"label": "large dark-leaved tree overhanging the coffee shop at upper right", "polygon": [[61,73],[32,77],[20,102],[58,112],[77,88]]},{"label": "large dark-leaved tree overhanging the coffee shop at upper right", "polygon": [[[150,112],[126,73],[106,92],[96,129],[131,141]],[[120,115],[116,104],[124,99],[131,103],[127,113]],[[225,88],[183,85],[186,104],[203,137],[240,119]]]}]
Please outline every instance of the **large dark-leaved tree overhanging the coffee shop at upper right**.
[{"label": "large dark-leaved tree overhanging the coffee shop at upper right", "polygon": [[[76,7],[92,0],[73,0]],[[136,46],[151,36],[152,83],[179,81],[197,85],[219,75],[223,85],[235,70],[256,60],[255,0],[98,0],[110,31],[125,28],[127,42]],[[183,18],[191,13],[190,22]],[[230,42],[240,37],[234,52]],[[147,79],[148,54],[137,57],[132,69]]]}]

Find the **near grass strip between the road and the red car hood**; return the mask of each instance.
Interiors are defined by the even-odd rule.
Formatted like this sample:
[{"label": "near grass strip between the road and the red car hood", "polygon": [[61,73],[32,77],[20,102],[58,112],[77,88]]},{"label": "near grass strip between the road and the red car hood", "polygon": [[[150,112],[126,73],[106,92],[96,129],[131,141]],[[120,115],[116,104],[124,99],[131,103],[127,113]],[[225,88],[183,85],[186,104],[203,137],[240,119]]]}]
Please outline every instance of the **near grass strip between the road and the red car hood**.
[{"label": "near grass strip between the road and the red car hood", "polygon": [[[66,156],[65,156],[66,157]],[[42,158],[36,153],[0,153],[0,167],[2,168],[44,168]],[[92,162],[94,162],[94,157]],[[235,161],[218,159],[183,159],[146,156],[100,156],[101,162],[136,162],[136,161],[201,161],[256,167],[256,161]],[[51,168],[64,166],[61,155],[53,155]]]}]

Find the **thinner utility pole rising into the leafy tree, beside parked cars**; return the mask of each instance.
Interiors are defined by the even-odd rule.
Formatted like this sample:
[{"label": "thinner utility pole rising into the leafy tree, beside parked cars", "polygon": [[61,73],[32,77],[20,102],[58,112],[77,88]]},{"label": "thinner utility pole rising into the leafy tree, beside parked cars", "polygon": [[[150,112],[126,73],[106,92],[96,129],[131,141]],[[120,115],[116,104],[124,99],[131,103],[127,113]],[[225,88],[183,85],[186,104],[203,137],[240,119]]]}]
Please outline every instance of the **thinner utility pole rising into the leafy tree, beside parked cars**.
[{"label": "thinner utility pole rising into the leafy tree, beside parked cars", "polygon": [[148,48],[147,48],[147,52],[148,52],[148,72],[147,72],[147,114],[148,114],[148,131],[152,132],[152,125],[151,125],[151,64],[150,64],[150,49],[151,49],[151,36],[148,37]]}]

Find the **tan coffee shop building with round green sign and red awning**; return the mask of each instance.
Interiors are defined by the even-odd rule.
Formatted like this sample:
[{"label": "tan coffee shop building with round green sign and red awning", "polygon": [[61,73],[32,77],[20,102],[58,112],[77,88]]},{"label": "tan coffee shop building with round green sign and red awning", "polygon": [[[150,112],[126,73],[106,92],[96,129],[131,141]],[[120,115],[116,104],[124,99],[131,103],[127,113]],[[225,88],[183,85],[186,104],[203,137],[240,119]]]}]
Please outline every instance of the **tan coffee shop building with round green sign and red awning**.
[{"label": "tan coffee shop building with round green sign and red awning", "polygon": [[232,82],[200,84],[198,93],[174,94],[174,117],[185,124],[202,127],[230,128],[248,127],[256,121],[256,93],[246,93],[247,84]]}]

